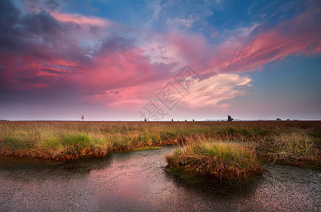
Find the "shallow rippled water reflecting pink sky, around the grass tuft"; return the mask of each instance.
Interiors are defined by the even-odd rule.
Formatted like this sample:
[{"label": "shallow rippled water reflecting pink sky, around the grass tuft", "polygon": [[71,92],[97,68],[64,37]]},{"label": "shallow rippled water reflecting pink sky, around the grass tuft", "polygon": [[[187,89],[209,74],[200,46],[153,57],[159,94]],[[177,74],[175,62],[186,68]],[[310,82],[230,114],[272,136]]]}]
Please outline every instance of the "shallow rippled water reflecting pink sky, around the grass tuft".
[{"label": "shallow rippled water reflecting pink sky, around the grass tuft", "polygon": [[321,211],[321,171],[265,165],[231,184],[164,172],[173,149],[67,163],[0,158],[0,211]]}]

